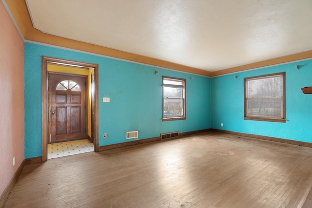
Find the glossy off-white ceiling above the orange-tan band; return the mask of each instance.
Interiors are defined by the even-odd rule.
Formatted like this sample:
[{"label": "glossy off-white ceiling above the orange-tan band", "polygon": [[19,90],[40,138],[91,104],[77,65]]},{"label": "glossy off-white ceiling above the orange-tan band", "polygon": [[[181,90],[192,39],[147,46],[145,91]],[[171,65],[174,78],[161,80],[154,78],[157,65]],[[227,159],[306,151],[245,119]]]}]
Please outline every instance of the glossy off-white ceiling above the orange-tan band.
[{"label": "glossy off-white ceiling above the orange-tan band", "polygon": [[312,49],[312,0],[26,0],[35,28],[207,71]]}]

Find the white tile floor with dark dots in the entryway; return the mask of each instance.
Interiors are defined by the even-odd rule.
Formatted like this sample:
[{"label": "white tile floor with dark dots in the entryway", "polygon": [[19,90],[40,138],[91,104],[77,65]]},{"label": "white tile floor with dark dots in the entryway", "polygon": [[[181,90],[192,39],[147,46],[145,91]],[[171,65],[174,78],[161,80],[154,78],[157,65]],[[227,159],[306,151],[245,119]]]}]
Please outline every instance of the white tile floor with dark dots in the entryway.
[{"label": "white tile floor with dark dots in the entryway", "polygon": [[88,139],[48,144],[48,160],[73,154],[94,151],[94,145]]}]

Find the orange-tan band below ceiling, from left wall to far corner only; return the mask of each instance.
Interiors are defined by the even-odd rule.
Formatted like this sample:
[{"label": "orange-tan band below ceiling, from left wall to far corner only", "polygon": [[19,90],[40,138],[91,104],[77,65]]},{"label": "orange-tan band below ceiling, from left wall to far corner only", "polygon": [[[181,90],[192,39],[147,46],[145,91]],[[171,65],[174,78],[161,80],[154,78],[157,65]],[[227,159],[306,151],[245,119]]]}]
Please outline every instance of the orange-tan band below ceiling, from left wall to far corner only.
[{"label": "orange-tan band below ceiling, from left wall to far corner only", "polygon": [[98,46],[90,43],[85,43],[69,38],[62,38],[54,35],[49,35],[40,32],[35,29],[30,18],[25,0],[6,0],[10,11],[12,12],[16,22],[20,28],[20,31],[26,40],[31,40],[40,43],[46,43],[50,45],[56,45],[60,47],[75,49],[78,51],[85,51],[93,54],[99,54],[107,57],[114,57],[128,61],[134,61],[143,64],[149,64],[157,67],[163,67],[168,69],[177,70],[180,72],[186,72],[201,76],[210,76],[210,72],[184,66],[169,61],[159,60],[151,57],[144,57],[136,54],[131,54],[116,49],[111,49],[103,46]]}]

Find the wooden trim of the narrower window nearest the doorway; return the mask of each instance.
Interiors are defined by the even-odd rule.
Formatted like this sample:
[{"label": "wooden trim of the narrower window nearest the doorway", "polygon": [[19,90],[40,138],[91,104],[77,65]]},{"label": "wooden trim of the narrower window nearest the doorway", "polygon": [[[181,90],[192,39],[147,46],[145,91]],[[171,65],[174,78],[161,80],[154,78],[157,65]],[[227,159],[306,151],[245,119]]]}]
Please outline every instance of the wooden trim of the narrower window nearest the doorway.
[{"label": "wooden trim of the narrower window nearest the doorway", "polygon": [[[171,85],[171,84],[164,84],[164,79],[176,79],[179,81],[183,81],[184,82],[184,87],[182,89],[184,89],[184,99],[183,99],[183,105],[184,105],[184,109],[183,109],[183,116],[176,116],[176,117],[168,117],[168,116],[164,116],[164,86],[166,87],[176,87],[176,85]],[[186,79],[183,78],[177,78],[177,77],[171,77],[171,76],[162,76],[162,121],[176,121],[176,120],[185,120],[186,119]]]}]

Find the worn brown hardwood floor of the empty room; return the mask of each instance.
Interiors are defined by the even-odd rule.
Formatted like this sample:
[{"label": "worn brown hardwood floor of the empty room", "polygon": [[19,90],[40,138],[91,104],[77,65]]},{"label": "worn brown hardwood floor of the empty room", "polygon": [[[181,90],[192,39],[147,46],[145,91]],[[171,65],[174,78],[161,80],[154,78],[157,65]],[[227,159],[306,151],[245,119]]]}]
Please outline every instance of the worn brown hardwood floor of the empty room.
[{"label": "worn brown hardwood floor of the empty room", "polygon": [[5,208],[302,207],[312,148],[218,132],[28,165]]}]

